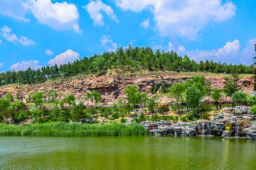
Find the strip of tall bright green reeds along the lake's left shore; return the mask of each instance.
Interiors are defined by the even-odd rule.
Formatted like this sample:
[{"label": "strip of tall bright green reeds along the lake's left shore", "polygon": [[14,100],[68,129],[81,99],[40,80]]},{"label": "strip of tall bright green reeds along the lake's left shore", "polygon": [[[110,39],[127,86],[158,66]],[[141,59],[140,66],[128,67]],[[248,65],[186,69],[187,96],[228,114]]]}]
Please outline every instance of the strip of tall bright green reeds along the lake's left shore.
[{"label": "strip of tall bright green reeds along the lake's left shore", "polygon": [[93,125],[79,123],[52,122],[28,125],[26,127],[0,124],[0,135],[17,136],[128,136],[147,134],[147,130],[138,124],[126,126],[121,123]]}]

